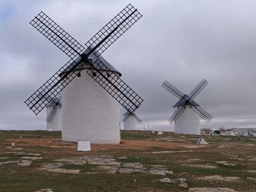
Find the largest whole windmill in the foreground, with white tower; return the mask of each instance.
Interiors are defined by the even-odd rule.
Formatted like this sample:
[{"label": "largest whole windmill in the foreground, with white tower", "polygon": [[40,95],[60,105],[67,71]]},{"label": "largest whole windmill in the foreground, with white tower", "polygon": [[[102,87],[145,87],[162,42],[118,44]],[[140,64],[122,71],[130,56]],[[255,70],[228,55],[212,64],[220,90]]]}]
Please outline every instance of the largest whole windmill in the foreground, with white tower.
[{"label": "largest whole windmill in the foreground, with white tower", "polygon": [[[70,58],[25,101],[37,115],[48,105],[45,97],[55,98],[61,92],[62,140],[120,142],[119,104],[133,113],[143,99],[120,79],[121,74],[101,54],[141,17],[138,9],[128,4],[86,42],[86,47],[44,12],[31,20],[34,28]],[[39,93],[42,96],[38,97]]]}]

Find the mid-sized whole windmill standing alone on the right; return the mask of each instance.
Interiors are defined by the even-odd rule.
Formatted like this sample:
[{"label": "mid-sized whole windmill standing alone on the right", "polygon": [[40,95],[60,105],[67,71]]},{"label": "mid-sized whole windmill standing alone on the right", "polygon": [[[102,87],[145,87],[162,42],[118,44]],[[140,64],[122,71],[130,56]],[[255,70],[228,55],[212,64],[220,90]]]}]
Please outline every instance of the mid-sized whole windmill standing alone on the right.
[{"label": "mid-sized whole windmill standing alone on the right", "polygon": [[175,124],[175,132],[177,134],[200,134],[200,118],[210,122],[212,116],[208,114],[194,99],[195,97],[206,87],[208,82],[201,80],[200,83],[186,95],[178,90],[175,86],[171,85],[170,82],[163,82],[162,87],[167,91],[176,96],[179,100],[173,105],[176,109],[173,115],[170,117],[168,122]]}]

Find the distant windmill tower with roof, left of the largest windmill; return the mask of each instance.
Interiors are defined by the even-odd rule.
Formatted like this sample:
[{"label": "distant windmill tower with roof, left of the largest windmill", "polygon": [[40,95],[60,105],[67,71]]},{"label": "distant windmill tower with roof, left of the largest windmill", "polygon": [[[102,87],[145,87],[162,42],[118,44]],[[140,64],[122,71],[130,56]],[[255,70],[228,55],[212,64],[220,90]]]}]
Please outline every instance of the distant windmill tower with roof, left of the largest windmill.
[{"label": "distant windmill tower with roof, left of the largest windmill", "polygon": [[46,129],[61,131],[61,96],[52,99],[46,106]]}]

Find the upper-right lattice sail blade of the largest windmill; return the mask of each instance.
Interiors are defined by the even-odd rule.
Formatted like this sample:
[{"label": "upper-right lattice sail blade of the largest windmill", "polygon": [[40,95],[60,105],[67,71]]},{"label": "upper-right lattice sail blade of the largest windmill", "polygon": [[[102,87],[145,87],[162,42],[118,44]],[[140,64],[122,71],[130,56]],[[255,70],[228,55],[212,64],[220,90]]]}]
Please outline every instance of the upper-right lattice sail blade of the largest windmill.
[{"label": "upper-right lattice sail blade of the largest windmill", "polygon": [[94,37],[86,42],[86,47],[96,48],[97,53],[101,55],[141,17],[140,12],[132,4],[128,4],[116,17],[100,29]]}]

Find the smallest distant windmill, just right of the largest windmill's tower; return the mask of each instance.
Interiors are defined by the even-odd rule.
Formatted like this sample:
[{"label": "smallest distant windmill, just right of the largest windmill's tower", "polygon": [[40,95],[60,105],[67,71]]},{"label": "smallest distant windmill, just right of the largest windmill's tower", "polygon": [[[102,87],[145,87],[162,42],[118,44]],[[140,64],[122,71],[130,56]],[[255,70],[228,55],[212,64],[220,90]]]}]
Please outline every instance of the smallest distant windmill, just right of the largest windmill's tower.
[{"label": "smallest distant windmill, just right of the largest windmill's tower", "polygon": [[135,130],[136,121],[141,123],[141,119],[138,117],[138,115],[135,114],[135,112],[124,112],[124,130]]}]

